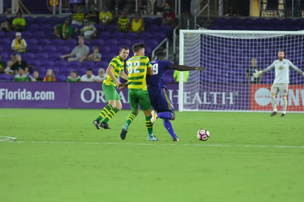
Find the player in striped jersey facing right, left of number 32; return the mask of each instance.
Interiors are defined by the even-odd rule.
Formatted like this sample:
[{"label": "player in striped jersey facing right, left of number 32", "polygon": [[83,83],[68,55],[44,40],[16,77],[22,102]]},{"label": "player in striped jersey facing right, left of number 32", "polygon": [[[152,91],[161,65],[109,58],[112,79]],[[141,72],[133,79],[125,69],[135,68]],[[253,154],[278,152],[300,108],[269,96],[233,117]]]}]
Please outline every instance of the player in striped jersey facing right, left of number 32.
[{"label": "player in striped jersey facing right, left of number 32", "polygon": [[126,60],[128,55],[129,48],[123,46],[119,52],[119,56],[113,58],[106,69],[107,75],[102,82],[102,90],[108,105],[102,109],[98,118],[93,121],[97,129],[99,129],[99,124],[104,129],[110,129],[107,123],[122,109],[122,103],[115,87],[121,83],[118,80],[118,76],[128,80],[128,75],[124,72],[124,60]]}]

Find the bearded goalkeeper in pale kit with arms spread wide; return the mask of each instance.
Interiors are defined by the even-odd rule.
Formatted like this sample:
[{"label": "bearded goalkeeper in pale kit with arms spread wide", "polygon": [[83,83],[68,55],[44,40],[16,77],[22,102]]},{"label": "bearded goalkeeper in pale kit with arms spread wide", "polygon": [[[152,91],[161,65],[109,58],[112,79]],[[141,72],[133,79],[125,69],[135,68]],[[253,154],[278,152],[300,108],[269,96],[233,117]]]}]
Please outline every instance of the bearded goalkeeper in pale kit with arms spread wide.
[{"label": "bearded goalkeeper in pale kit with arms spread wide", "polygon": [[270,116],[273,117],[278,114],[277,105],[276,105],[276,95],[280,91],[280,94],[282,95],[282,99],[283,99],[283,112],[281,117],[286,117],[287,93],[288,93],[288,84],[289,84],[289,68],[293,69],[302,76],[304,76],[304,73],[299,68],[294,66],[289,60],[284,59],[283,51],[278,52],[278,58],[279,60],[273,62],[273,64],[268,68],[265,68],[260,71],[256,70],[255,73],[253,73],[253,76],[259,77],[261,74],[275,69],[276,78],[271,87],[271,104],[274,109],[274,112]]}]

